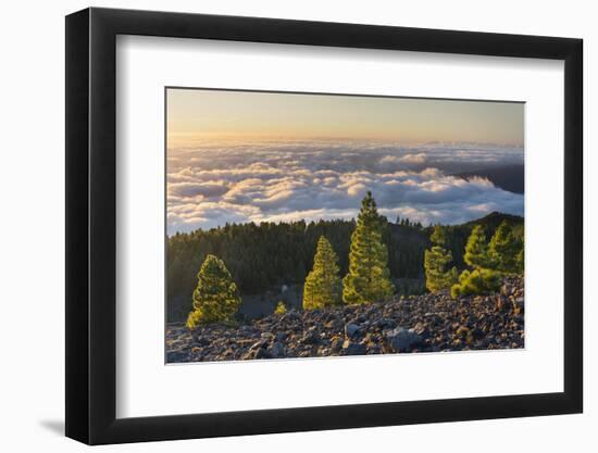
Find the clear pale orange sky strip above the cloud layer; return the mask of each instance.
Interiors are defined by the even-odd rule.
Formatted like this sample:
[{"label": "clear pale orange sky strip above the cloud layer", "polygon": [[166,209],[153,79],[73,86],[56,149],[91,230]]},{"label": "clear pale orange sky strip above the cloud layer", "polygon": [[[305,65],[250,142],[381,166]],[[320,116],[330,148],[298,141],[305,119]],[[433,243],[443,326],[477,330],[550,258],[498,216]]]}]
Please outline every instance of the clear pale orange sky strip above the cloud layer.
[{"label": "clear pale orange sky strip above the cloud layer", "polygon": [[523,144],[523,103],[167,89],[169,148],[224,139]]}]

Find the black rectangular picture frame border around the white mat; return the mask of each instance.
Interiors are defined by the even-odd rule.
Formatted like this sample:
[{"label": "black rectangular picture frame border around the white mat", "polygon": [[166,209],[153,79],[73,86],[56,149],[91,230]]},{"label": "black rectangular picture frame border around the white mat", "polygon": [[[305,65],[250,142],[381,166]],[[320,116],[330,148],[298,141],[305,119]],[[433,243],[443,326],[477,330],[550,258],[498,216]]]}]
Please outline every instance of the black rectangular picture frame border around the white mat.
[{"label": "black rectangular picture frame border around the white mat", "polygon": [[[116,408],[117,35],[564,61],[564,391],[123,418]],[[66,17],[66,436],[89,444],[580,413],[583,408],[581,39],[86,9]]]}]

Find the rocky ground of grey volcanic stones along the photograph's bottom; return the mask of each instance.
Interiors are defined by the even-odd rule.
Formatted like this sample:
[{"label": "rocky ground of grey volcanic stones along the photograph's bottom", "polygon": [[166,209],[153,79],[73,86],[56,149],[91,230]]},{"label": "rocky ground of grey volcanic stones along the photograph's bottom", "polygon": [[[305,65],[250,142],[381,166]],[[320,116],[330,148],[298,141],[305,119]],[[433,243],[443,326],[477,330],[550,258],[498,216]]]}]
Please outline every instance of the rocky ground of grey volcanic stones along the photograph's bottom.
[{"label": "rocky ground of grey volcanic stones along the photograph's bottom", "polygon": [[288,311],[237,326],[190,332],[166,328],[166,358],[176,362],[322,357],[524,347],[522,278],[491,295],[452,300],[447,292],[371,305]]}]

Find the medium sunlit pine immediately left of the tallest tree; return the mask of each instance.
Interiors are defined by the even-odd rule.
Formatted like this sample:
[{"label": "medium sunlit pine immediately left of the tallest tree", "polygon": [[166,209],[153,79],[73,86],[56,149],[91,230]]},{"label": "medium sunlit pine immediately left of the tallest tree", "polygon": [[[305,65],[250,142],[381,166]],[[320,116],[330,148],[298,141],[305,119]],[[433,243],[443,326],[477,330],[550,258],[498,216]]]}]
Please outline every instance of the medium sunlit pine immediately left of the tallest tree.
[{"label": "medium sunlit pine immediately left of the tallest tree", "polygon": [[315,310],[338,305],[341,302],[341,284],[338,276],[338,257],[331,242],[320,236],[313,268],[303,287],[303,309]]}]

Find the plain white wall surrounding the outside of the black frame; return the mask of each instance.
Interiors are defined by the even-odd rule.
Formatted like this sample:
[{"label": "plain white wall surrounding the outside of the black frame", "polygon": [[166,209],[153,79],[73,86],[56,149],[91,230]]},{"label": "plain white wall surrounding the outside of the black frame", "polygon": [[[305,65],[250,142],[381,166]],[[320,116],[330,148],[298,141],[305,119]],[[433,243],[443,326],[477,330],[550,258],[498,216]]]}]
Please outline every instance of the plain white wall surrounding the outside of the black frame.
[{"label": "plain white wall surrounding the outside of the black frame", "polygon": [[[88,7],[78,0],[3,4],[0,78],[0,445],[4,451],[80,451],[63,438],[64,426],[64,18]],[[598,28],[593,2],[583,0],[398,2],[370,0],[136,0],[94,5],[197,13],[260,15],[335,22],[403,25],[581,37],[585,40],[586,270],[598,272],[598,163],[590,129],[597,89]],[[593,110],[593,111],[590,111]],[[8,159],[8,160],[7,160]],[[541,171],[541,169],[538,169]],[[585,298],[585,414],[459,424],[353,429],[151,444],[102,451],[304,452],[594,451],[598,439],[598,305],[589,285]],[[593,429],[594,428],[594,429]]]}]

